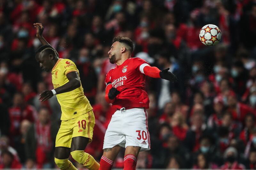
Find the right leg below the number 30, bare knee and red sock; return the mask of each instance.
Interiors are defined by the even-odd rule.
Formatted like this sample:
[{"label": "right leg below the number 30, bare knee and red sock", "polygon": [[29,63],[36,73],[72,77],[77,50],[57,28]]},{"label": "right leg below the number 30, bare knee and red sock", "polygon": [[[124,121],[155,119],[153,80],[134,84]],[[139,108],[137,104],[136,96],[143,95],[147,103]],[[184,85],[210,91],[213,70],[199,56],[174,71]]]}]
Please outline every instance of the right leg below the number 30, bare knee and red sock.
[{"label": "right leg below the number 30, bare knee and red sock", "polygon": [[139,152],[140,152],[139,146],[127,146],[125,148],[124,170],[135,170]]}]

